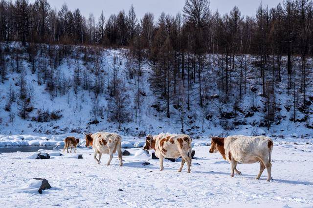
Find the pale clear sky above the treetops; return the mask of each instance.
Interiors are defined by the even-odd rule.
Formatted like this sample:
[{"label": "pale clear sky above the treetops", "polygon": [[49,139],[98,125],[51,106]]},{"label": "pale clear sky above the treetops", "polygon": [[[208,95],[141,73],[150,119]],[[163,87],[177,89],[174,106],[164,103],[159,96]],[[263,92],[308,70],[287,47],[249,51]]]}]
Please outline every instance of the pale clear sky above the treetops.
[{"label": "pale clear sky above the treetops", "polygon": [[[35,0],[30,0],[34,2]],[[185,0],[48,0],[52,8],[60,9],[66,3],[70,10],[79,8],[81,13],[88,18],[90,13],[98,19],[101,11],[104,11],[106,19],[111,14],[117,14],[120,10],[128,11],[134,5],[137,17],[140,19],[146,12],[151,12],[157,19],[162,12],[175,16],[182,11]],[[263,5],[269,8],[275,7],[283,0],[262,0]],[[238,6],[242,15],[254,16],[261,0],[210,0],[210,8],[213,12],[219,10],[221,14],[229,12],[234,6]]]}]

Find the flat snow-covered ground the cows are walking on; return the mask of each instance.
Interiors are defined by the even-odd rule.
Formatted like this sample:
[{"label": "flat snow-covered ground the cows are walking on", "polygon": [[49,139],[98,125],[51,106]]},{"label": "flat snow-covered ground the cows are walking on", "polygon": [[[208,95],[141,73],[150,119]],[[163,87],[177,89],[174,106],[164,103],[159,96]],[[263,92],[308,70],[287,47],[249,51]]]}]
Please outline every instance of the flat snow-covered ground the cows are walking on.
[{"label": "flat snow-covered ground the cows are walking on", "polygon": [[[170,161],[159,171],[158,160],[140,148],[128,149],[132,155],[123,157],[123,167],[116,155],[110,166],[108,155],[98,165],[87,148],[63,156],[61,150],[46,151],[52,155],[47,160],[29,159],[32,152],[2,153],[0,202],[6,207],[312,207],[313,141],[294,140],[274,141],[270,182],[266,171],[254,179],[259,164],[239,164],[243,175],[231,178],[230,165],[201,142],[193,147],[190,174],[186,166],[177,172],[180,162]],[[84,159],[76,159],[78,154]],[[149,166],[142,165],[147,161]],[[23,192],[36,177],[47,179],[52,189]]]}]

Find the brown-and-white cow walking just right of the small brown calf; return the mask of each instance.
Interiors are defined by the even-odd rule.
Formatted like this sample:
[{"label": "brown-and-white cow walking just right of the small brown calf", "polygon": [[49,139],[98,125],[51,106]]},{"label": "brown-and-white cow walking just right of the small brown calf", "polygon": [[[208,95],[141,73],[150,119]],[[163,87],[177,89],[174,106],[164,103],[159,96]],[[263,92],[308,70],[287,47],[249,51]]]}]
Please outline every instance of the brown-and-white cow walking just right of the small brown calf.
[{"label": "brown-and-white cow walking just right of the small brown calf", "polygon": [[[122,137],[117,133],[108,132],[96,132],[96,133],[84,133],[86,135],[86,147],[92,146],[94,150],[93,158],[98,164],[101,163],[100,159],[103,153],[109,154],[110,159],[107,165],[110,165],[113,153],[117,151],[119,165],[123,166],[122,161]],[[97,154],[99,154],[99,159],[97,159]]]}]

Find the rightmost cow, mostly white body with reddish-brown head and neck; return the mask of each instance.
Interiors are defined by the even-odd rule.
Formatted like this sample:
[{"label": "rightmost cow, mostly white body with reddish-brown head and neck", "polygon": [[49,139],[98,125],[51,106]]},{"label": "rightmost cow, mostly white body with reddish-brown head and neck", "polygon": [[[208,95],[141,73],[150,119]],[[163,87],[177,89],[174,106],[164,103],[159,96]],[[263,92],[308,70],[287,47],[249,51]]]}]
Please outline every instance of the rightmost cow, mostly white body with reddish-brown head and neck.
[{"label": "rightmost cow, mostly white body with reddish-brown head and neck", "polygon": [[260,179],[263,170],[268,170],[268,179],[271,179],[271,153],[273,141],[266,136],[228,136],[226,138],[213,137],[210,153],[220,152],[225,160],[231,164],[231,177],[234,171],[241,175],[236,166],[238,162],[251,164],[260,162],[260,172],[256,179]]}]

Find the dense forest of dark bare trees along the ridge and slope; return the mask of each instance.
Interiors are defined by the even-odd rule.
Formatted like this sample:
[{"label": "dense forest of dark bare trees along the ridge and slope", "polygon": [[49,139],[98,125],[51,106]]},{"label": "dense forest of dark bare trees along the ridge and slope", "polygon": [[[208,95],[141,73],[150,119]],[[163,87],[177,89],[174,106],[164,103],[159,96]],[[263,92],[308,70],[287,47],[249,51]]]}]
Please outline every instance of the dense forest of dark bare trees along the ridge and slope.
[{"label": "dense forest of dark bare trees along the ridge and slope", "polygon": [[[70,11],[66,4],[59,10],[52,9],[48,0],[34,3],[0,0],[0,41],[3,46],[0,81],[5,83],[13,72],[21,75],[19,95],[8,93],[5,110],[10,111],[11,103],[18,96],[19,115],[23,119],[31,111],[32,97],[23,81],[23,54],[27,54],[32,74],[39,85],[46,86],[51,99],[66,95],[69,90],[75,94],[78,91],[94,93],[92,114],[96,123],[99,108],[96,98],[107,92],[115,108],[111,120],[123,123],[134,119],[123,103],[130,99],[129,95],[116,76],[120,58],[113,58],[110,86],[103,89],[107,76],[101,66],[102,48],[125,49],[126,74],[137,86],[133,108],[142,108],[145,92],[140,83],[149,81],[154,94],[162,100],[161,106],[158,103],[151,107],[158,112],[164,110],[163,116],[167,118],[175,114],[182,132],[189,111],[197,108],[203,115],[198,119],[210,120],[213,116],[208,110],[210,106],[218,109],[220,118],[234,118],[236,126],[236,111],[243,111],[238,103],[249,91],[256,93],[258,89],[262,110],[251,106],[254,112],[264,114],[264,122],[258,125],[268,129],[271,124],[279,125],[281,107],[276,96],[282,90],[293,99],[291,103],[283,103],[291,113],[290,121],[308,122],[310,119],[308,106],[313,102],[311,0],[285,0],[275,8],[260,4],[254,17],[243,16],[236,6],[229,13],[220,14],[211,11],[208,0],[186,0],[182,12],[176,16],[162,13],[155,18],[146,13],[139,19],[132,6],[129,11],[112,14],[109,19],[105,19],[102,12],[98,20],[92,14],[82,16],[79,9]],[[25,50],[9,48],[9,43],[14,41],[20,42]],[[47,66],[57,68],[67,57],[76,60],[72,79],[46,70]],[[152,74],[144,80],[147,67]],[[87,72],[92,72],[93,76],[87,76]],[[251,78],[259,80],[255,86]],[[214,83],[219,93],[210,95],[207,83]],[[197,107],[191,104],[194,102]],[[249,117],[253,111],[245,116]],[[298,113],[304,116],[299,117]],[[58,115],[50,117],[57,119]],[[230,124],[226,122],[223,126]],[[311,123],[307,127],[313,128]]]}]

